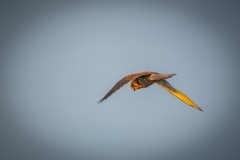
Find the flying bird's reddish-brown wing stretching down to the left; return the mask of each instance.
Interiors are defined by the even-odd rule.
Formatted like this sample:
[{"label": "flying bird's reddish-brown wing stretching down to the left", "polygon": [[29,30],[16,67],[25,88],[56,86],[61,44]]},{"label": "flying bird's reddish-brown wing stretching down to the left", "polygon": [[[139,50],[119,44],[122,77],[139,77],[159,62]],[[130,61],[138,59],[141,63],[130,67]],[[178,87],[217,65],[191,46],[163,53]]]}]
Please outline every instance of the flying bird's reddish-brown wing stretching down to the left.
[{"label": "flying bird's reddish-brown wing stretching down to the left", "polygon": [[153,72],[140,72],[135,74],[130,74],[125,77],[123,77],[120,81],[118,81],[113,88],[101,99],[98,101],[98,103],[101,103],[103,100],[107,99],[109,96],[111,96],[114,92],[116,92],[118,89],[120,89],[122,86],[127,84],[129,81],[136,79],[139,76],[152,74]]}]

